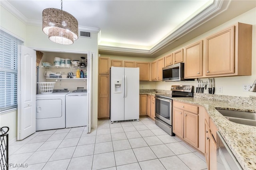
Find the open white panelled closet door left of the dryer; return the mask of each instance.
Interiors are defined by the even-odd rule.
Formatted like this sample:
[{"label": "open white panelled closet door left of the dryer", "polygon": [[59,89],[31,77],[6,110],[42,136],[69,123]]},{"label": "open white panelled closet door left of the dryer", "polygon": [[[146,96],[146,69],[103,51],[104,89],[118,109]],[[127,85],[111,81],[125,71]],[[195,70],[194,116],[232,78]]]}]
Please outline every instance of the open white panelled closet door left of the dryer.
[{"label": "open white panelled closet door left of the dryer", "polygon": [[17,140],[36,132],[36,51],[19,46]]}]

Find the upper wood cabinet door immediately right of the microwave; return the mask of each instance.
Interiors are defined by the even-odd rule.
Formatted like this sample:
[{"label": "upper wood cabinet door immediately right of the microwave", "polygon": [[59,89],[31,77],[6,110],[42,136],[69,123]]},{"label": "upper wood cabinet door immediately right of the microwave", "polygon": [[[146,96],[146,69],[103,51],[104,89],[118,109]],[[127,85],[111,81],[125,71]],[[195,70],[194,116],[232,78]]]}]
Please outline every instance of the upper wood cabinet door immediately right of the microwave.
[{"label": "upper wood cabinet door immediately right of the microwave", "polygon": [[203,76],[203,41],[199,41],[185,48],[185,78]]}]

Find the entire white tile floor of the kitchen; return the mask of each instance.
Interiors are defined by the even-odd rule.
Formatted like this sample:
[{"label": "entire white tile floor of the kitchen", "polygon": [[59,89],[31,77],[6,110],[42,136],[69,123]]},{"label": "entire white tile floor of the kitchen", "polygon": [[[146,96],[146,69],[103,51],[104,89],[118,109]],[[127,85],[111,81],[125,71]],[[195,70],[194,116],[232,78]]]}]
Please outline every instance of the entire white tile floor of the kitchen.
[{"label": "entire white tile floor of the kitchen", "polygon": [[[10,170],[202,170],[204,156],[171,137],[148,117],[98,122],[86,133],[75,127],[38,131],[9,146]],[[25,167],[27,166],[27,167]]]}]

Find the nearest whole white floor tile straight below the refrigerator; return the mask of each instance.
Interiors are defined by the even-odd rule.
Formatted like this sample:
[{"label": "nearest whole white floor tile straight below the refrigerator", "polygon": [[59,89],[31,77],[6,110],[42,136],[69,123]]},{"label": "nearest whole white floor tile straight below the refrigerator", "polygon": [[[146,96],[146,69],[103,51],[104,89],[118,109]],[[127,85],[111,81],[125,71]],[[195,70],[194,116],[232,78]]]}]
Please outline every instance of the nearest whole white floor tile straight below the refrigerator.
[{"label": "nearest whole white floor tile straight below the refrigerator", "polygon": [[114,154],[116,166],[137,162],[132,149],[115,151]]}]

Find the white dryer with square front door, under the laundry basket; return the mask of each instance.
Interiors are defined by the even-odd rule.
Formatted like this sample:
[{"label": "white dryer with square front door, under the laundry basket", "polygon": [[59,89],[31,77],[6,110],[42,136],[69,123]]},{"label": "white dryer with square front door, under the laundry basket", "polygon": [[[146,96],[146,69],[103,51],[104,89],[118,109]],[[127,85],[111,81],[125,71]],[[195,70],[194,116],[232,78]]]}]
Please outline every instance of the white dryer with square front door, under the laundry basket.
[{"label": "white dryer with square front door, under the laundry basket", "polygon": [[53,90],[36,95],[36,131],[66,127],[66,95],[68,90]]}]

